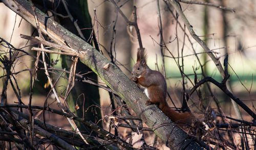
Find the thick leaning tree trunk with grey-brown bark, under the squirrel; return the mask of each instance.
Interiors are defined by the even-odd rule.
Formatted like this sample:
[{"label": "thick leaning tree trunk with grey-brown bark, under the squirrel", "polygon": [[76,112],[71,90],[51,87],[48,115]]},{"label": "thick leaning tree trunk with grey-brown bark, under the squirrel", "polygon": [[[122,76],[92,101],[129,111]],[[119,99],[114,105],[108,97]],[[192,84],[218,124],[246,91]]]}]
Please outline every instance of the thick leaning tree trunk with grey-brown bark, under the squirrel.
[{"label": "thick leaning tree trunk with grey-brown bark, under the squirrel", "polygon": [[18,15],[23,17],[32,26],[36,27],[34,12],[39,20],[42,33],[51,39],[58,39],[62,43],[68,43],[70,47],[77,49],[79,59],[90,67],[109,87],[133,109],[133,111],[144,121],[148,127],[152,127],[156,135],[171,149],[203,149],[187,135],[175,127],[155,105],[146,106],[147,97],[130,81],[129,78],[108,59],[101,55],[94,47],[86,41],[60,26],[49,16],[35,8],[25,0],[2,0],[2,2]]}]

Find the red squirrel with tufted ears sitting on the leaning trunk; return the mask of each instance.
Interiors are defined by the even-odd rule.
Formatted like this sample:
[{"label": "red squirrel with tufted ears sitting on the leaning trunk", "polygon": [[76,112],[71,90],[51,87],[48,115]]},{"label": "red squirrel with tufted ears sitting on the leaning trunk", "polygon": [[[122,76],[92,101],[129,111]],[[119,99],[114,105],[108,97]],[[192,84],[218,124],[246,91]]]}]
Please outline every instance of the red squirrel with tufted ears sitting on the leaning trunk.
[{"label": "red squirrel with tufted ears sitting on the leaning trunk", "polygon": [[151,70],[146,64],[146,54],[144,48],[139,48],[137,52],[137,63],[132,70],[131,80],[139,87],[144,88],[144,93],[149,98],[147,105],[156,104],[162,112],[172,121],[182,126],[191,126],[196,117],[191,112],[178,113],[166,103],[166,81],[163,75],[156,70]]}]

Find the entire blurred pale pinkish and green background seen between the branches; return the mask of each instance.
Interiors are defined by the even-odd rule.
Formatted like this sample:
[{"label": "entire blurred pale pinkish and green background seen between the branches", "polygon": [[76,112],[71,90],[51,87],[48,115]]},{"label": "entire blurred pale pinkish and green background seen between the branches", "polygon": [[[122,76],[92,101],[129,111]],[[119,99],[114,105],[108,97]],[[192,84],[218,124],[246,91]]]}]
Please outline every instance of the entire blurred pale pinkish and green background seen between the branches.
[{"label": "entire blurred pale pinkish and green background seen between the branches", "polygon": [[[254,0],[215,0],[215,1],[200,1],[214,3],[227,8],[232,8],[235,12],[222,10],[216,7],[180,3],[184,14],[186,15],[194,31],[202,40],[206,42],[209,49],[214,55],[220,59],[223,64],[225,55],[229,55],[229,84],[234,95],[239,97],[250,109],[254,110],[253,106],[256,100],[256,1]],[[174,8],[168,7],[164,1],[160,1],[160,12],[163,28],[163,41],[167,49],[164,49],[164,66],[165,77],[168,86],[168,93],[172,97],[176,107],[181,107],[183,83],[185,83],[186,90],[191,89],[192,84],[188,78],[182,81],[179,66],[176,62],[183,66],[184,73],[194,82],[194,70],[197,73],[198,79],[202,79],[202,70],[206,76],[210,76],[221,82],[221,74],[212,60],[204,53],[203,48],[191,37],[188,30],[185,32],[184,23],[178,17],[179,23],[176,21],[176,12]],[[151,69],[159,70],[164,73],[163,61],[160,50],[160,26],[159,15],[157,9],[157,1],[118,1],[118,6],[122,6],[121,10],[124,15],[133,21],[133,6],[137,7],[137,22],[141,34],[143,47],[146,48],[147,64]],[[112,59],[116,65],[131,78],[131,70],[136,63],[136,52],[139,48],[135,29],[127,26],[125,19],[118,13],[115,6],[108,1],[88,1],[88,10],[91,15],[92,24],[94,28],[95,38],[99,43],[99,50],[104,56]],[[34,31],[26,20],[20,18],[3,3],[0,3],[0,37],[9,41],[17,48],[22,48],[26,45],[27,40],[21,39],[19,34],[31,35]],[[173,13],[173,14],[172,14]],[[89,30],[86,27],[80,27],[81,30]],[[91,30],[89,30],[91,31]],[[187,34],[184,38],[184,33]],[[31,47],[25,47],[24,50],[30,52]],[[2,50],[3,51],[3,50]],[[34,53],[34,52],[31,52]],[[112,53],[114,58],[110,58],[109,53]],[[175,58],[173,58],[173,54]],[[36,54],[36,53],[34,53]],[[197,54],[197,56],[195,55]],[[60,59],[60,56],[49,55],[51,61]],[[199,62],[200,60],[200,62]],[[200,64],[203,66],[201,69]],[[14,68],[16,71],[31,68],[33,60],[31,57],[23,57],[20,63],[17,63]],[[61,62],[57,61],[56,68],[61,68]],[[3,69],[0,69],[3,74]],[[28,100],[29,90],[29,72],[17,74],[17,81],[19,88],[23,91],[22,97]],[[56,78],[56,77],[55,77]],[[99,83],[102,81],[99,80]],[[58,83],[59,91],[63,90],[61,86],[67,81],[62,79]],[[38,84],[45,85],[47,83],[46,77],[41,77]],[[0,84],[2,86],[3,84]],[[104,85],[104,84],[103,84]],[[10,85],[8,85],[10,86]],[[218,98],[222,106],[222,110],[228,116],[237,118],[233,111],[230,100],[223,94],[223,92],[216,86],[212,85],[212,91]],[[2,87],[1,87],[2,88]],[[212,97],[202,87],[203,102],[205,106],[211,106],[216,109],[216,105],[212,103]],[[11,88],[10,88],[11,89]],[[33,105],[40,105],[44,103],[48,89],[44,86],[38,86],[34,91]],[[7,92],[9,99],[16,101],[12,90]],[[102,107],[102,116],[109,114],[111,101],[108,92],[99,89],[100,106]],[[13,98],[11,98],[13,97]],[[194,110],[194,106],[201,104],[199,98],[194,97],[195,101],[189,102]],[[26,100],[25,100],[26,101]],[[54,99],[51,99],[53,102]],[[169,106],[172,106],[169,99],[167,100]],[[13,103],[13,102],[8,102]],[[27,102],[28,103],[28,102]],[[56,107],[57,108],[57,107]],[[203,111],[202,109],[195,109],[196,112]],[[255,110],[254,110],[255,111]],[[251,118],[241,110],[243,117],[247,121]],[[54,119],[63,120],[59,117]],[[69,124],[59,123],[61,128],[69,129]]]}]

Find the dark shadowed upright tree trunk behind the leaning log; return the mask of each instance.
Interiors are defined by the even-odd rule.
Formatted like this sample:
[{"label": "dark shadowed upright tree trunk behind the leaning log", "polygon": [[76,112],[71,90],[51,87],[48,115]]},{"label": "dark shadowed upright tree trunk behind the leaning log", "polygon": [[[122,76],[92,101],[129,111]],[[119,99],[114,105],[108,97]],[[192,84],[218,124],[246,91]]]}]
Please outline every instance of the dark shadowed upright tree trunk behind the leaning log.
[{"label": "dark shadowed upright tree trunk behind the leaning log", "polygon": [[[54,19],[57,20],[63,27],[67,28],[72,33],[78,35],[78,32],[74,26],[74,21],[77,21],[77,24],[81,30],[83,36],[86,38],[86,41],[90,43],[89,38],[91,38],[92,33],[92,20],[88,11],[87,1],[84,0],[66,0],[68,9],[73,16],[74,20],[68,18],[59,17],[58,15],[54,15]],[[67,11],[64,8],[62,2],[56,1],[51,3],[49,1],[42,2],[34,2],[41,9],[56,10],[56,13],[62,14],[63,16],[67,16]],[[79,36],[79,35],[78,35]],[[93,41],[93,40],[92,40]],[[92,42],[91,42],[92,44]],[[61,55],[61,66],[62,68],[66,68],[66,70],[70,70],[71,67],[71,57]],[[89,67],[82,64],[80,61],[77,63],[76,73],[87,73],[91,71]],[[67,74],[68,77],[68,74]],[[97,76],[94,72],[87,73],[84,75],[86,78],[90,78],[97,82]],[[67,86],[67,80],[65,83],[62,83],[61,86]],[[71,90],[67,98],[67,104],[71,111],[73,111],[78,117],[82,117],[86,120],[91,120],[92,122],[97,123],[98,120],[101,119],[101,111],[97,107],[99,106],[99,90],[98,87],[90,85],[88,83],[75,82],[75,86]],[[75,110],[75,106],[78,105],[79,109]],[[79,122],[76,122],[77,127],[80,131],[88,131],[86,128],[81,127],[82,125]],[[98,123],[98,126],[101,127],[101,122]]]}]

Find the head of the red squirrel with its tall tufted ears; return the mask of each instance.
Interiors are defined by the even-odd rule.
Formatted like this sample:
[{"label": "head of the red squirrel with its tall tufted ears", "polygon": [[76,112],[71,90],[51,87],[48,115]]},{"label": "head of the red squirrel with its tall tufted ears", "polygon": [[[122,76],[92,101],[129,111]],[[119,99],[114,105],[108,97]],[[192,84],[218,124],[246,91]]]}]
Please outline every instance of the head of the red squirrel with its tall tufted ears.
[{"label": "head of the red squirrel with its tall tufted ears", "polygon": [[145,48],[139,48],[137,51],[137,63],[133,67],[133,77],[139,78],[139,76],[146,70],[146,55]]}]

